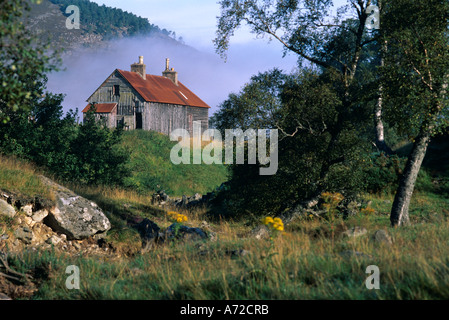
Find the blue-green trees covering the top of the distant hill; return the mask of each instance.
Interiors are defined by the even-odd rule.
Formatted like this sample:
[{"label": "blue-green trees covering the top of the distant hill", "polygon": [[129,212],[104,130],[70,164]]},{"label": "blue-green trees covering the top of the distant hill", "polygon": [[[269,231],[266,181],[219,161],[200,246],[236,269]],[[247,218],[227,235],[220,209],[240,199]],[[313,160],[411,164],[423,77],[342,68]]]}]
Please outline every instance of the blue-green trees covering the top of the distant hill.
[{"label": "blue-green trees covering the top of the distant hill", "polygon": [[75,5],[80,9],[81,28],[89,32],[101,34],[105,37],[114,37],[125,32],[129,36],[145,34],[150,32],[171,35],[172,32],[160,29],[158,26],[150,23],[148,19],[138,17],[133,13],[123,11],[119,8],[107,7],[104,4],[98,5],[89,0],[50,0],[61,7],[65,15],[66,8],[69,5]]}]

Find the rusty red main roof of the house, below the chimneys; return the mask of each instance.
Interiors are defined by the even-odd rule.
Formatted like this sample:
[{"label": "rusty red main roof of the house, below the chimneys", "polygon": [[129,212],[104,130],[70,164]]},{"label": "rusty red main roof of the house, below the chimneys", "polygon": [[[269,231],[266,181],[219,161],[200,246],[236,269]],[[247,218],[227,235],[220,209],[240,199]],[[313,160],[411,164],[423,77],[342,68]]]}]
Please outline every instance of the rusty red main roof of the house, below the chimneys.
[{"label": "rusty red main roof of the house, below the chimneys", "polygon": [[142,96],[145,101],[178,104],[191,107],[210,108],[196,94],[187,89],[181,82],[175,85],[173,81],[162,76],[146,75],[144,80],[138,73],[117,71]]}]

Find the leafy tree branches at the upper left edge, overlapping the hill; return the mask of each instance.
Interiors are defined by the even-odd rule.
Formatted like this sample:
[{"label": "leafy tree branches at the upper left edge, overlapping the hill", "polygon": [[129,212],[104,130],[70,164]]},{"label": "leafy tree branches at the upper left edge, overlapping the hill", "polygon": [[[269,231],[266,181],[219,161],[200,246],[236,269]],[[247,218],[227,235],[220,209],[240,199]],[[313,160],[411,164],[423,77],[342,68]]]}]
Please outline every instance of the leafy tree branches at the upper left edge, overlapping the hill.
[{"label": "leafy tree branches at the upper left edge, overlapping the hill", "polygon": [[42,79],[54,70],[56,53],[49,54],[49,43],[36,41],[21,21],[29,10],[25,0],[0,3],[0,121],[10,112],[30,110],[42,95]]}]

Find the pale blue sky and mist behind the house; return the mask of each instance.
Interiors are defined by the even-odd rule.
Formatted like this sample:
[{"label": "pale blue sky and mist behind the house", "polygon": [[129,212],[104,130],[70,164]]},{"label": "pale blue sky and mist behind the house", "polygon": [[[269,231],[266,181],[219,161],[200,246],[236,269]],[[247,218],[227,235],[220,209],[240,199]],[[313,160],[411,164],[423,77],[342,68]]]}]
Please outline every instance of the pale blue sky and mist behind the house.
[{"label": "pale blue sky and mist behind the house", "polygon": [[[256,39],[245,27],[231,38],[227,60],[213,46],[220,5],[216,0],[91,0],[99,5],[120,8],[147,18],[161,29],[182,37],[185,47],[153,38],[111,41],[107,49],[82,51],[64,57],[65,71],[51,74],[47,87],[66,95],[64,110],[86,106],[87,98],[116,69],[144,56],[147,73],[161,75],[165,58],[178,71],[178,79],[205,101],[211,116],[230,93],[238,93],[251,76],[279,68],[286,73],[297,67],[297,57],[287,53],[276,40]],[[340,0],[339,0],[340,1]],[[81,12],[82,14],[82,12]]]}]

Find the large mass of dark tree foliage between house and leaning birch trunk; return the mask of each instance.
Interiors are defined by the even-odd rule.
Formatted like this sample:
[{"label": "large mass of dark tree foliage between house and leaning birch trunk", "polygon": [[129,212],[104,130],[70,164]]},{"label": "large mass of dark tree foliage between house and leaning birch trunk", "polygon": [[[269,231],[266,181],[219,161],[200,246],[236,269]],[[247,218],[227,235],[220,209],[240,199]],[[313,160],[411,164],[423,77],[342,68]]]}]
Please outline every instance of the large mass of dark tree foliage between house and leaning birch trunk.
[{"label": "large mass of dark tree foliage between house and leaning birch trunk", "polygon": [[[232,123],[228,119],[233,117],[246,126],[268,118],[271,122],[262,124],[281,131],[275,176],[257,176],[257,170],[247,165],[233,166],[233,196],[223,196],[231,208],[228,212],[279,212],[323,191],[348,197],[365,189],[361,168],[373,140],[367,127],[372,127],[378,92],[374,66],[380,61],[377,32],[365,26],[368,3],[351,1],[335,15],[331,1],[220,1],[214,40],[218,53],[224,56],[234,31],[247,24],[252,33],[280,41],[285,51],[317,67],[268,84],[276,90],[262,89],[258,96],[247,95],[244,88],[222,104],[214,119],[218,127],[222,126],[218,120]],[[351,13],[357,18],[348,18]],[[265,106],[266,100],[278,102],[275,110],[245,110],[252,101]]]}]

